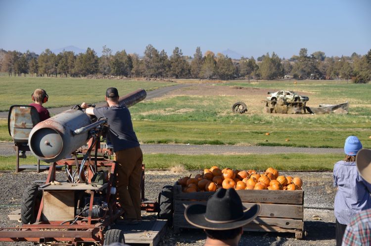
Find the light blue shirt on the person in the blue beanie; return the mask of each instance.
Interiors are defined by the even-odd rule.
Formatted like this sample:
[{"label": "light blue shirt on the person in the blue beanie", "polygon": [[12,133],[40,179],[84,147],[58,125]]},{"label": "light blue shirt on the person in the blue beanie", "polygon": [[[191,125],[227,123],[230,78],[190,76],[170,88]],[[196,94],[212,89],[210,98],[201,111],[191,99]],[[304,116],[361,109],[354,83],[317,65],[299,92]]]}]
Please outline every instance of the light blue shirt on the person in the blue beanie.
[{"label": "light blue shirt on the person in the blue beanie", "polygon": [[358,173],[355,161],[335,163],[333,185],[337,186],[334,213],[340,224],[348,225],[361,210],[371,208],[371,184]]}]

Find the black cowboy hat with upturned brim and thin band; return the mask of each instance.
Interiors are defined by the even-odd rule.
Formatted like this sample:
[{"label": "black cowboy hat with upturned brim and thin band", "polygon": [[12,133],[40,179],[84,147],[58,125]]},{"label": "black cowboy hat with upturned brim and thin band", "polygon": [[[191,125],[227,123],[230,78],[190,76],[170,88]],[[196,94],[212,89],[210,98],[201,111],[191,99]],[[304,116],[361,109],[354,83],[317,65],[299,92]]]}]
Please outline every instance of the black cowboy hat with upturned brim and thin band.
[{"label": "black cowboy hat with upturned brim and thin band", "polygon": [[208,230],[229,230],[242,227],[255,219],[261,205],[247,209],[234,189],[219,189],[207,201],[207,205],[192,204],[185,209],[189,224]]}]

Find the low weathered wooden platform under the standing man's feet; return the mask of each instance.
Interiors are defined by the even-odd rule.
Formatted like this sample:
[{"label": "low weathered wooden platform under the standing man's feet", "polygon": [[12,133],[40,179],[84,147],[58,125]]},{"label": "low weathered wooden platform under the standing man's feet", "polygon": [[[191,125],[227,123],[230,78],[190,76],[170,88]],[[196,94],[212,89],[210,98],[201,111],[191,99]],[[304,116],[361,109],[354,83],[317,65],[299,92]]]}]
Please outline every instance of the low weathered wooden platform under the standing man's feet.
[{"label": "low weathered wooden platform under the standing man's feet", "polygon": [[166,233],[167,220],[144,220],[139,225],[115,225],[111,229],[123,230],[126,244],[156,246]]}]

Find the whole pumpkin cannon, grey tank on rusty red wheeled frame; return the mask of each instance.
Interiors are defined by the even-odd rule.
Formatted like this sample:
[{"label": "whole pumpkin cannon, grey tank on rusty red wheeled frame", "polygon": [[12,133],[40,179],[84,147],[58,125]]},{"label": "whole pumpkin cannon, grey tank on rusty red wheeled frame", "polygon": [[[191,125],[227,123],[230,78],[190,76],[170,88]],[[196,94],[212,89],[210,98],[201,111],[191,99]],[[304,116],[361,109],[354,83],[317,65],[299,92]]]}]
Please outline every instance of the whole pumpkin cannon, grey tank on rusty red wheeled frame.
[{"label": "whole pumpkin cannon, grey tank on rusty red wheeled frame", "polygon": [[[145,97],[146,92],[140,89],[119,102],[130,107]],[[76,105],[31,130],[30,149],[38,159],[50,163],[49,173],[44,184],[26,188],[21,207],[23,225],[0,228],[0,241],[75,246],[125,243],[124,229],[109,228],[123,210],[117,203],[112,149],[104,143],[101,148],[108,127],[107,119],[91,118]],[[88,148],[83,148],[87,143]],[[57,165],[64,166],[65,180],[55,180]],[[141,209],[155,212],[157,204],[144,198],[144,165],[141,186]],[[161,222],[162,227],[156,224],[157,228],[164,227],[166,222]]]}]

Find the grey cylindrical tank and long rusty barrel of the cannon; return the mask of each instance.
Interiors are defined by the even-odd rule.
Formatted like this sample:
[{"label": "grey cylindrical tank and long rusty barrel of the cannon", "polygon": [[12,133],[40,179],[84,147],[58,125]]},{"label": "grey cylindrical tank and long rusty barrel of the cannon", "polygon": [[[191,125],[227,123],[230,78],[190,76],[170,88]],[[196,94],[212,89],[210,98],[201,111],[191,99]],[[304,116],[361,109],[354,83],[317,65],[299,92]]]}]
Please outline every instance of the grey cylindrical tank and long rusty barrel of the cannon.
[{"label": "grey cylindrical tank and long rusty barrel of the cannon", "polygon": [[[130,107],[146,97],[139,89],[119,98],[120,105]],[[105,120],[92,123],[90,117],[80,110],[66,110],[37,124],[28,138],[28,145],[36,158],[55,162],[65,158],[89,140],[89,131]]]}]

